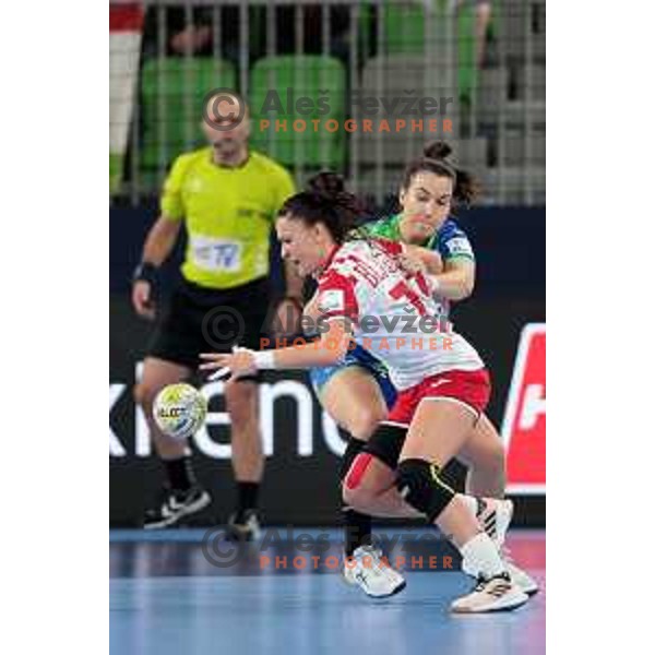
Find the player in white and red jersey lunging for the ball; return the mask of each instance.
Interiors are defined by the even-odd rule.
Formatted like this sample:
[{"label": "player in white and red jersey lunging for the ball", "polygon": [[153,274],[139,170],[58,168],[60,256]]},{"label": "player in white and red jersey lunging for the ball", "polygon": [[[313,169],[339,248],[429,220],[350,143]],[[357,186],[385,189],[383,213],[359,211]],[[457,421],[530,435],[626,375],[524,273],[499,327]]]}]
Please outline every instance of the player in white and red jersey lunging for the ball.
[{"label": "player in white and red jersey lunging for the ball", "polygon": [[[434,332],[432,289],[421,272],[403,267],[401,245],[348,239],[355,199],[343,191],[341,180],[335,183],[338,176],[321,177],[326,192],[293,196],[276,225],[283,257],[300,274],[318,279],[325,325],[320,340],[276,350],[203,354],[207,364],[201,368],[241,377],[260,369],[332,366],[354,338],[362,338],[365,320],[386,318],[364,344],[388,367],[398,402],[390,415],[392,425],[380,426],[355,458],[345,501],[371,514],[422,515],[441,528],[460,549],[464,570],[478,580],[469,594],[452,604],[453,611],[520,607],[527,595],[512,582],[497,545],[476,520],[479,501],[455,493],[441,479],[487,405],[490,383],[484,364],[461,335]],[[418,327],[412,335],[402,331],[406,319]],[[511,503],[485,502],[507,517],[504,532]]]}]

